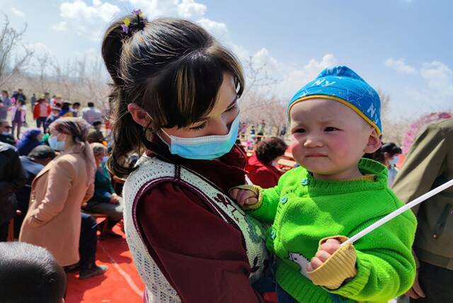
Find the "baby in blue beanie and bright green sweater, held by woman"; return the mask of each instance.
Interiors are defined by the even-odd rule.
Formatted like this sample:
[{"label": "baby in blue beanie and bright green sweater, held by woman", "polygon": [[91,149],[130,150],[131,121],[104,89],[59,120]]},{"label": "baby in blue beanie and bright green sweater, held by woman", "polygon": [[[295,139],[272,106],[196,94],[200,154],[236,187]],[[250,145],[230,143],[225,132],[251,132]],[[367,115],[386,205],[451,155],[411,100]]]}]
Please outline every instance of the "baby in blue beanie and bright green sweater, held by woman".
[{"label": "baby in blue beanie and bright green sweater, held by woman", "polygon": [[287,113],[301,167],[275,188],[230,190],[249,214],[273,223],[266,244],[277,256],[278,301],[386,302],[403,294],[415,278],[411,211],[341,246],[403,206],[387,168],[362,159],[381,145],[378,94],[348,67],[331,67],[294,95]]}]

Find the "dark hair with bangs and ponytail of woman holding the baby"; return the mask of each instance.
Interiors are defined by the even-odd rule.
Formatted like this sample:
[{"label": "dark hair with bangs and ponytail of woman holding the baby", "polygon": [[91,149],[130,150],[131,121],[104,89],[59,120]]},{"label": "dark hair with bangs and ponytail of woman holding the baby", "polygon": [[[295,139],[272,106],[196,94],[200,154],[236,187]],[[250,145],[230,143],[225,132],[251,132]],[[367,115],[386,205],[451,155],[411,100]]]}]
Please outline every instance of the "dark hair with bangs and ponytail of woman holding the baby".
[{"label": "dark hair with bangs and ponytail of woman holding the baby", "polygon": [[239,96],[243,71],[239,60],[199,25],[178,18],[147,21],[130,18],[129,33],[122,30],[124,18],[110,25],[103,38],[102,55],[113,79],[110,94],[115,144],[108,161],[110,171],[125,177],[127,156],[142,154],[144,127],[134,122],[127,105],[137,104],[151,122],[151,136],[162,127],[187,127],[205,118],[217,99],[223,73],[230,73]]}]

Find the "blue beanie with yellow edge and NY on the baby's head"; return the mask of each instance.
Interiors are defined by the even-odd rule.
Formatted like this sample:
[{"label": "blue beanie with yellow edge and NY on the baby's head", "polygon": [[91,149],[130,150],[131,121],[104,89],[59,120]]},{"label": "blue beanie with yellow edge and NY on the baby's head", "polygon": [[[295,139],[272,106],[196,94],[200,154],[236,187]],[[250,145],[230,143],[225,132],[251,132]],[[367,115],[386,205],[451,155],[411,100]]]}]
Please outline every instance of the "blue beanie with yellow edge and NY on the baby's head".
[{"label": "blue beanie with yellow edge and NY on the baby's head", "polygon": [[379,95],[349,67],[336,66],[324,69],[316,79],[297,91],[289,101],[288,117],[294,104],[313,98],[325,98],[343,103],[372,125],[377,135],[381,135]]}]

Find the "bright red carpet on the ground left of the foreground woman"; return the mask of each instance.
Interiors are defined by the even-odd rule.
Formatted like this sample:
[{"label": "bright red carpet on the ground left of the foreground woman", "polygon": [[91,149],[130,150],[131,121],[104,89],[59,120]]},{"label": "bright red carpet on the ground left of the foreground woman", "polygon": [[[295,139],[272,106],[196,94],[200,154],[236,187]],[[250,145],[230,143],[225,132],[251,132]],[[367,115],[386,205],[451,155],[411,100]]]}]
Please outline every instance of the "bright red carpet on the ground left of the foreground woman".
[{"label": "bright red carpet on the ground left of the foreground woman", "polygon": [[[117,226],[114,230],[121,233]],[[67,303],[143,302],[144,284],[132,262],[124,234],[122,239],[98,241],[96,259],[96,264],[108,265],[107,272],[86,280],[69,273]]]}]

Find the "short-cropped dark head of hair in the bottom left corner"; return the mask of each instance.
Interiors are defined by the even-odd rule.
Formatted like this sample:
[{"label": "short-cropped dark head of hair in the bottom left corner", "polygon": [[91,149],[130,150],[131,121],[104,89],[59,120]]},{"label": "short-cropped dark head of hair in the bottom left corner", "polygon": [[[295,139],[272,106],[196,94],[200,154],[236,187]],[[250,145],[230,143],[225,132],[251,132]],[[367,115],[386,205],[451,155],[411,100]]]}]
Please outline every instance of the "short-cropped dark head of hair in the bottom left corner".
[{"label": "short-cropped dark head of hair in the bottom left corner", "polygon": [[47,249],[0,242],[0,256],[1,302],[62,302],[66,274]]}]

